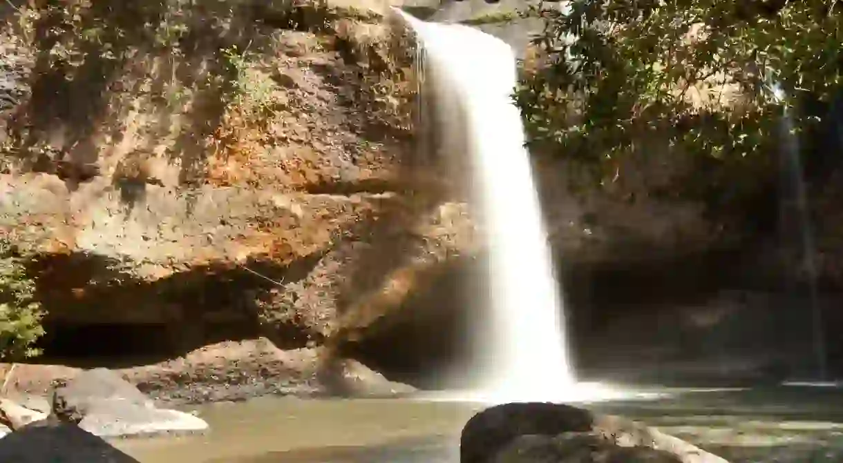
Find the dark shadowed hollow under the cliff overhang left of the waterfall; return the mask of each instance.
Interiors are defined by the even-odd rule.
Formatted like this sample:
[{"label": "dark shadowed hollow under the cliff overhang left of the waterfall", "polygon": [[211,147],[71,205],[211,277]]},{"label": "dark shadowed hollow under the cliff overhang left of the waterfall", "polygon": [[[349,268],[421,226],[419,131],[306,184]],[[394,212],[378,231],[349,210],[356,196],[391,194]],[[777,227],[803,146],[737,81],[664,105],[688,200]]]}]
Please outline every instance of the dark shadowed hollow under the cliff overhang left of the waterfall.
[{"label": "dark shadowed hollow under the cliff overhang left of the waterfall", "polygon": [[[153,282],[104,271],[109,261],[96,256],[71,254],[32,262],[28,271],[39,275],[36,297],[46,311],[46,334],[37,344],[44,355],[29,363],[125,368],[173,359],[212,343],[260,337],[279,349],[303,348],[309,338],[302,328],[268,329],[261,323],[260,301],[277,290],[275,282],[303,279],[320,258],[317,253],[286,266],[259,260],[242,266],[197,266]],[[53,267],[61,271],[54,273]],[[89,285],[98,278],[106,283]],[[119,284],[113,283],[116,278]],[[80,295],[73,288],[87,290]],[[109,315],[159,306],[170,311],[146,321],[125,322]],[[72,322],[73,311],[88,311],[81,317],[86,322]],[[99,324],[89,322],[98,317]]]}]

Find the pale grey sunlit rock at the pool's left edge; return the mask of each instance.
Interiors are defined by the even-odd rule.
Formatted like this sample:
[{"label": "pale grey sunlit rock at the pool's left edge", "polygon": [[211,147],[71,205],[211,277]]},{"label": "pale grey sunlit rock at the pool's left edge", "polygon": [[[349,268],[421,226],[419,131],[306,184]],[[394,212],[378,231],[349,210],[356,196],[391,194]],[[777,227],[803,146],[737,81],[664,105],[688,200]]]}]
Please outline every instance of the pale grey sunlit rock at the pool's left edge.
[{"label": "pale grey sunlit rock at the pool's left edge", "polygon": [[155,407],[137,387],[111,370],[83,371],[53,392],[56,417],[101,437],[205,431],[201,418]]}]

